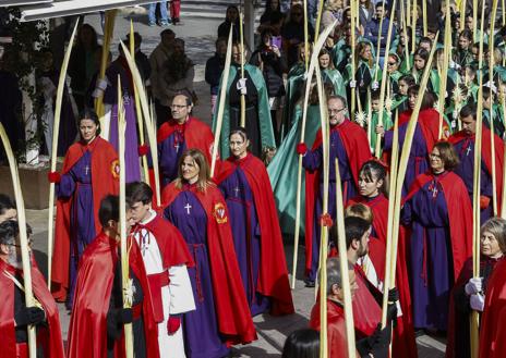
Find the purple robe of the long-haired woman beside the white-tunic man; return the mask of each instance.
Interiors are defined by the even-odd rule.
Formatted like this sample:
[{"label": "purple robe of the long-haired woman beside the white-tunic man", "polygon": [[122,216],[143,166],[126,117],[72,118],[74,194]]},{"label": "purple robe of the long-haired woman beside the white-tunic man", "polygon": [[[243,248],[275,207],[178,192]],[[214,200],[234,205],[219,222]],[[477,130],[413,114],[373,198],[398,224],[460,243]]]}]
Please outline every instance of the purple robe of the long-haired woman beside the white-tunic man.
[{"label": "purple robe of the long-haired woman beside the white-tunic man", "polygon": [[207,250],[207,215],[198,199],[181,192],[164,212],[184,237],[195,266],[188,268],[196,309],[183,316],[184,350],[190,358],[218,358],[229,354],[218,331]]}]

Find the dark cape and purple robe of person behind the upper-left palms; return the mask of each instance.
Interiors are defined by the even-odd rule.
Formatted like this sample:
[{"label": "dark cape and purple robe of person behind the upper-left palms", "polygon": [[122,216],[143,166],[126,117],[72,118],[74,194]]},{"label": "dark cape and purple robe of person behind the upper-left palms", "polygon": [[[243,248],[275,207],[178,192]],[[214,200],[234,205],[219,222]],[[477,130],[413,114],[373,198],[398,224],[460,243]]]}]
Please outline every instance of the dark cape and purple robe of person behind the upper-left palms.
[{"label": "dark cape and purple robe of person behind the upper-left palms", "polygon": [[110,64],[107,69],[106,76],[109,78],[111,85],[106,88],[104,94],[104,103],[112,106],[108,139],[112,147],[115,147],[116,151],[118,151],[118,76],[120,76],[124,116],[126,121],[126,128],[124,131],[125,182],[138,182],[141,180],[141,164],[138,160],[135,101],[133,98],[133,88],[130,86],[131,79],[126,74],[126,71],[119,63],[119,60]]}]

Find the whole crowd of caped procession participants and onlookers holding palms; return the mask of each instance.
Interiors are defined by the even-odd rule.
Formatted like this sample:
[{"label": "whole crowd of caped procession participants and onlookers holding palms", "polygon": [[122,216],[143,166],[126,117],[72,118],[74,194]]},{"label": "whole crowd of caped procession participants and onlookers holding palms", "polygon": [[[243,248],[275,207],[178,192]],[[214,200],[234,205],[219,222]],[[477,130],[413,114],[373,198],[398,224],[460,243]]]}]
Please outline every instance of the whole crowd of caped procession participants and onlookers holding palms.
[{"label": "whole crowd of caped procession participants and onlookers holding palms", "polygon": [[[0,196],[0,267],[4,272],[0,285],[7,303],[0,308],[2,322],[7,322],[0,331],[8,342],[5,357],[27,357],[26,326],[31,324],[37,326],[44,357],[57,358],[65,354],[123,356],[126,323],[132,323],[135,357],[218,358],[228,356],[232,345],[255,341],[254,316],[294,312],[284,237],[291,239],[299,223],[298,163],[305,174],[300,193],[305,208],[300,231],[305,238],[303,279],[309,288],[304,292],[314,295],[311,288],[318,284],[322,255],[328,257],[327,292],[326,297],[317,296],[308,329],[287,338],[284,358],[317,355],[323,299],[328,355],[347,356],[342,280],[349,280],[351,287],[357,357],[417,357],[420,334],[446,336],[449,358],[471,357],[474,341],[469,322],[475,312],[481,317],[479,357],[506,354],[502,324],[506,220],[499,218],[506,26],[490,33],[489,23],[496,20],[486,9],[483,33],[473,33],[477,20],[471,13],[461,17],[451,7],[447,14],[442,4],[426,26],[419,9],[419,18],[411,18],[409,27],[401,12],[389,17],[391,3],[360,0],[357,28],[352,28],[350,8],[328,0],[316,28],[314,2],[310,2],[310,42],[315,33],[337,21],[317,49],[321,78],[306,75],[306,60],[315,47],[304,44],[300,1],[267,0],[257,29],[260,44],[251,55],[240,45],[239,9],[227,9],[217,29],[216,54],[205,69],[212,95],[210,127],[192,114],[194,64],[185,54],[184,41],[164,29],[159,45],[147,57],[135,34],[136,66],[155,107],[157,136],[150,145],[157,149],[158,161],[146,145],[140,145],[135,91],[125,54],[120,48],[100,78],[96,32],[86,24],[80,27],[69,66],[71,90],[63,101],[68,110],[62,110],[69,115],[62,116],[68,125],[59,134],[63,168],[48,175],[57,195],[51,291],[32,260],[35,307],[24,303],[15,205]],[[448,15],[450,48],[445,47],[443,36]],[[230,30],[231,66],[224,83]],[[352,39],[356,48],[351,48]],[[448,67],[444,66],[446,55]],[[40,83],[47,88],[45,108],[50,118],[57,71],[50,52],[46,60]],[[426,86],[422,86],[424,72],[429,74]],[[119,90],[126,118],[125,208],[120,208],[118,197]],[[218,119],[222,94],[225,107]],[[97,98],[104,98],[103,119],[93,110]],[[385,262],[393,197],[388,184],[389,176],[397,175],[390,166],[396,149],[402,151],[417,104],[420,110],[401,188],[394,284],[388,287],[385,276],[390,268]],[[322,107],[326,108],[328,138],[321,128]],[[76,126],[70,125],[72,121]],[[215,138],[218,126],[220,137]],[[328,143],[327,153],[324,143]],[[481,150],[479,163],[474,162],[475,150]],[[147,176],[140,164],[144,156]],[[325,157],[337,162],[328,170],[328,189]],[[154,168],[156,162],[158,168]],[[339,237],[334,222],[337,174],[346,237]],[[473,202],[479,207],[479,237],[472,224]],[[120,268],[121,210],[125,210],[129,233],[126,281]],[[322,250],[325,226],[329,244]],[[338,250],[341,239],[346,252]],[[481,244],[481,252],[474,252],[479,270],[473,264],[477,239]],[[349,277],[340,272],[341,260],[348,261]],[[382,325],[384,294],[388,296],[387,322]],[[71,314],[67,353],[55,300],[64,303]]]}]

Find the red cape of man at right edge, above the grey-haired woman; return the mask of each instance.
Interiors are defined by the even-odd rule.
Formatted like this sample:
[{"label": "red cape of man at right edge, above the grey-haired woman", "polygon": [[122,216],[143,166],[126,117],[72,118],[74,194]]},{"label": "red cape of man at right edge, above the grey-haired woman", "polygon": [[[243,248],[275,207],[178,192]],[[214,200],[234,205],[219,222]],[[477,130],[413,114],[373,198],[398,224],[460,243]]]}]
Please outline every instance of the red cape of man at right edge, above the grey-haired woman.
[{"label": "red cape of man at right edge, above the grey-haired woman", "polygon": [[[483,126],[482,127],[482,147],[481,147],[481,156],[483,162],[485,163],[486,170],[492,177],[492,140],[491,140],[492,132]],[[457,132],[453,136],[448,138],[448,141],[453,145],[467,139],[469,136],[463,132]],[[471,136],[472,140],[474,140],[474,135]],[[495,150],[495,183],[496,183],[496,193],[497,193],[497,212],[501,213],[501,207],[503,202],[503,165],[504,165],[504,143],[501,137],[494,134],[494,150]],[[492,205],[492,203],[491,203]]]}]

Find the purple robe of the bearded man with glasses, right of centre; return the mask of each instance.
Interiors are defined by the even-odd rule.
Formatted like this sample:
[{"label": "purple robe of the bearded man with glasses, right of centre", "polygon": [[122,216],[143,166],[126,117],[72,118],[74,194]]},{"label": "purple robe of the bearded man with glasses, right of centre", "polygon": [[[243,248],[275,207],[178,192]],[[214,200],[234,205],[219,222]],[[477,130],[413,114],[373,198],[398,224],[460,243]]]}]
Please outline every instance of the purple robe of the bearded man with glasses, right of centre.
[{"label": "purple robe of the bearded man with glasses, right of centre", "polygon": [[[350,169],[348,153],[337,131],[330,132],[330,161],[329,161],[329,181],[328,181],[328,214],[336,218],[336,158],[339,163],[339,174],[341,177],[342,200],[348,202],[358,195],[358,189],[353,181],[353,174]],[[323,168],[323,146],[315,150],[309,150],[302,159],[302,165],[310,171],[321,170]],[[315,281],[320,262],[320,217],[323,207],[323,175],[320,175],[320,188],[316,199],[316,208],[313,219],[313,258],[311,260],[311,271],[309,280]]]}]

